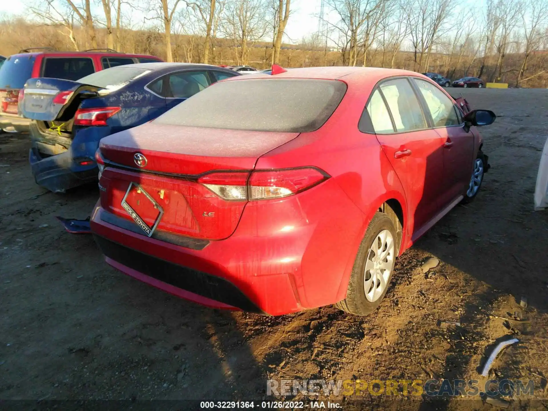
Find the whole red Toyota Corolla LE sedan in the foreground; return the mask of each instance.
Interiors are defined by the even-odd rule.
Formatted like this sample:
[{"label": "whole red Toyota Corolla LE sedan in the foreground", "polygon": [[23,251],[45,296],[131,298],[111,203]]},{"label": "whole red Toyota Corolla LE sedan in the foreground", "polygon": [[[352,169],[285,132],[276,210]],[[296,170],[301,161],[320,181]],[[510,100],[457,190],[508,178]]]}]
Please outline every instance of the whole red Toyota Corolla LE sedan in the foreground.
[{"label": "whole red Toyota Corolla LE sedan in the foreground", "polygon": [[409,71],[235,77],[101,140],[91,227],[110,265],[185,299],[366,315],[396,257],[476,196],[473,126],[494,119]]}]

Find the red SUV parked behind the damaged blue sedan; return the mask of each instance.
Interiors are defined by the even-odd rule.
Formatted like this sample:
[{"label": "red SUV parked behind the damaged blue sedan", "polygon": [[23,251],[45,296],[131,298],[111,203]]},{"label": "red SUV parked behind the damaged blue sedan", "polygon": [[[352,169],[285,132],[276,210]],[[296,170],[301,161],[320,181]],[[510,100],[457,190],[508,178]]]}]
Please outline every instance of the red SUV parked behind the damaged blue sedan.
[{"label": "red SUV parked behind the damaged blue sedan", "polygon": [[[31,50],[41,50],[31,52]],[[77,80],[96,71],[134,63],[162,61],[155,56],[118,53],[110,49],[56,52],[33,48],[9,56],[0,68],[0,129],[28,132],[30,120],[18,115],[20,90],[33,77]]]}]

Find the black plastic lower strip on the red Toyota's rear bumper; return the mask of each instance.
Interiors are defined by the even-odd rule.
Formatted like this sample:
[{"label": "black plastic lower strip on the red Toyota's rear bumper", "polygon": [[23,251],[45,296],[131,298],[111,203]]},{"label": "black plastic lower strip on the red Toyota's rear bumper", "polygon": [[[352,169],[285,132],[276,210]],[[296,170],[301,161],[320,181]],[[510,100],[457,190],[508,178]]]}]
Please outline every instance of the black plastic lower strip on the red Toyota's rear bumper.
[{"label": "black plastic lower strip on the red Toyota's rear bumper", "polygon": [[241,290],[224,278],[141,253],[95,234],[93,237],[103,254],[130,269],[241,310],[264,314]]}]

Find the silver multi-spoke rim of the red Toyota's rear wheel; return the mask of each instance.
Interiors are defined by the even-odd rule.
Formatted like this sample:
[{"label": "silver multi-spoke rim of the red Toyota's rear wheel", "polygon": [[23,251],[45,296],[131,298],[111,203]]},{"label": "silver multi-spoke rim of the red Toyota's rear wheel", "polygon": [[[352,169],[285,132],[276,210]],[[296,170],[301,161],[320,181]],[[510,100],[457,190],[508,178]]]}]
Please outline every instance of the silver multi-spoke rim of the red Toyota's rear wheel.
[{"label": "silver multi-spoke rim of the red Toyota's rear wheel", "polygon": [[396,261],[394,250],[394,239],[389,230],[379,232],[369,248],[363,289],[370,302],[378,300],[388,286]]}]

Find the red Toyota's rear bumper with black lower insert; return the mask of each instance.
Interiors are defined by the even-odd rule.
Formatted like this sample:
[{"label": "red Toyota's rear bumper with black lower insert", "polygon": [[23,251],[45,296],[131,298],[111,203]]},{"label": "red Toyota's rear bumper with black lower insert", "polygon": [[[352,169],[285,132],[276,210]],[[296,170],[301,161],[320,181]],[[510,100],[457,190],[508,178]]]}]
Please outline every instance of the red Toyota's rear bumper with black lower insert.
[{"label": "red Toyota's rear bumper with black lower insert", "polygon": [[[329,208],[318,192],[330,194]],[[229,238],[199,249],[128,230],[110,216],[98,202],[90,226],[116,269],[199,304],[269,315],[344,299],[365,225],[330,180],[281,201],[248,203]]]}]

